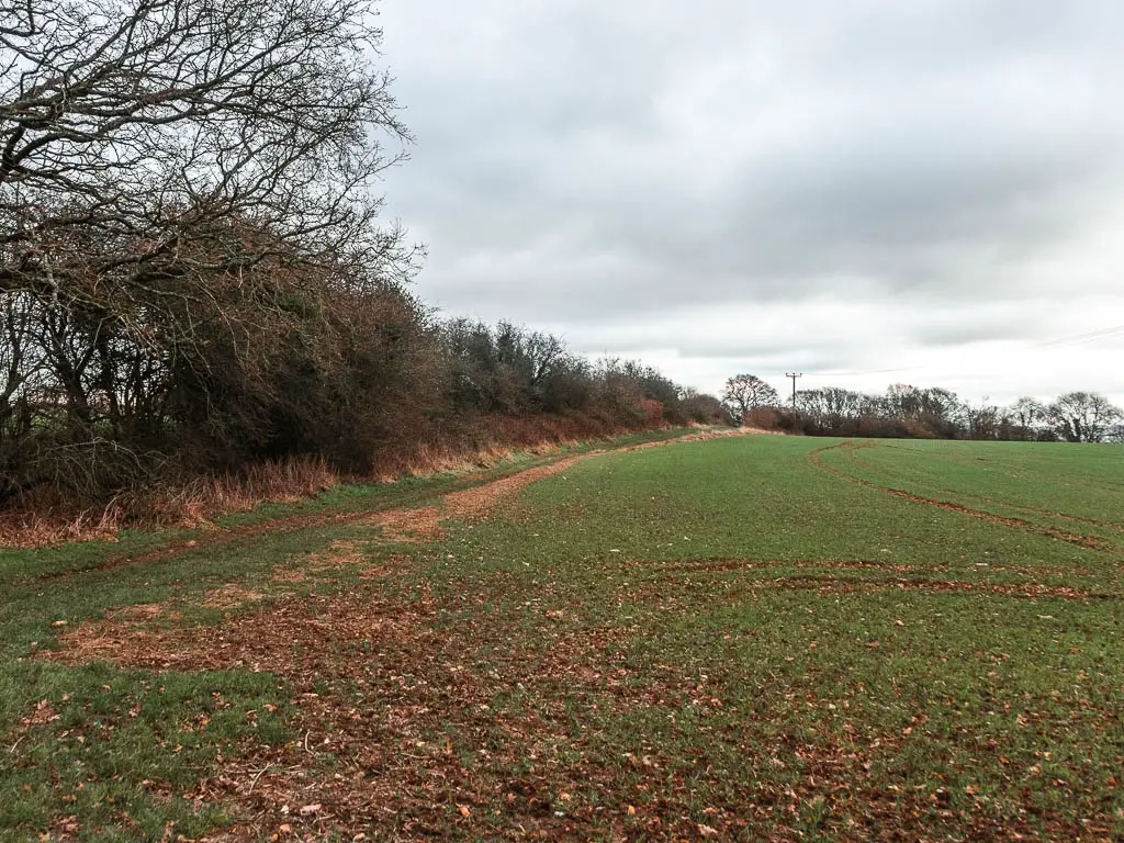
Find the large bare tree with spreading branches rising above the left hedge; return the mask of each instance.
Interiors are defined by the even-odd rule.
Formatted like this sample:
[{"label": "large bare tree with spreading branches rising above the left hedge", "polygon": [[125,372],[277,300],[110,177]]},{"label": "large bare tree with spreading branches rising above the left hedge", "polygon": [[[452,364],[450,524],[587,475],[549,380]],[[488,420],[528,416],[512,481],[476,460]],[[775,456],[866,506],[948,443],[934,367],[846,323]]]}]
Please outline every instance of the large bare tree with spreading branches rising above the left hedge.
[{"label": "large bare tree with spreading branches rising above the left hedge", "polygon": [[0,292],[65,323],[78,415],[85,374],[110,386],[115,345],[202,365],[215,323],[245,352],[257,315],[291,305],[255,289],[263,262],[319,269],[306,285],[409,271],[401,232],[377,223],[374,178],[399,157],[378,133],[407,133],[371,63],[372,15],[365,0],[0,7]]}]

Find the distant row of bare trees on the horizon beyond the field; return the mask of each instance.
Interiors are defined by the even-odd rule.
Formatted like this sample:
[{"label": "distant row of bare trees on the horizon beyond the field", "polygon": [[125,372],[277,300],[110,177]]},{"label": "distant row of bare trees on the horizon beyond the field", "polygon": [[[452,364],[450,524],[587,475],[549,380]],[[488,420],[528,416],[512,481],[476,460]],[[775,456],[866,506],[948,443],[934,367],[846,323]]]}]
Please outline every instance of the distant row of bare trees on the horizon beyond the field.
[{"label": "distant row of bare trees on the horizon beyond the field", "polygon": [[726,381],[723,404],[738,424],[809,436],[1124,442],[1124,410],[1097,392],[1008,406],[972,405],[950,390],[890,386],[883,395],[839,387],[798,390],[795,407],[753,374]]}]

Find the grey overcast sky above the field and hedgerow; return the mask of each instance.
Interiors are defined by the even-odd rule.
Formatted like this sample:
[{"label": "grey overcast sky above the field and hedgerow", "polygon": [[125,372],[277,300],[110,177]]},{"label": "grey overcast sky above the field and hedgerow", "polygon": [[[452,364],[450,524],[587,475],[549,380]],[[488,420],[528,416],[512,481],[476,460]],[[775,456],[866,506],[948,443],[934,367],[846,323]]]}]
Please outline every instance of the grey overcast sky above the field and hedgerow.
[{"label": "grey overcast sky above the field and hedgerow", "polygon": [[444,315],[715,392],[1124,402],[1121,0],[381,10]]}]

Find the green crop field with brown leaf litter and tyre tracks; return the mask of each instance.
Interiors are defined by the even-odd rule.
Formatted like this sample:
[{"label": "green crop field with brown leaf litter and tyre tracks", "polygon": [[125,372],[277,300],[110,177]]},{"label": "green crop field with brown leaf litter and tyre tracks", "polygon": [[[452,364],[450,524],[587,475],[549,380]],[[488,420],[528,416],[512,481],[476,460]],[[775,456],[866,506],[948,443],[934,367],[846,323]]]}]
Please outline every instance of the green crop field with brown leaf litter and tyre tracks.
[{"label": "green crop field with brown leaf litter and tyre tracks", "polygon": [[1124,837],[1124,447],[642,444],[0,552],[0,837]]}]

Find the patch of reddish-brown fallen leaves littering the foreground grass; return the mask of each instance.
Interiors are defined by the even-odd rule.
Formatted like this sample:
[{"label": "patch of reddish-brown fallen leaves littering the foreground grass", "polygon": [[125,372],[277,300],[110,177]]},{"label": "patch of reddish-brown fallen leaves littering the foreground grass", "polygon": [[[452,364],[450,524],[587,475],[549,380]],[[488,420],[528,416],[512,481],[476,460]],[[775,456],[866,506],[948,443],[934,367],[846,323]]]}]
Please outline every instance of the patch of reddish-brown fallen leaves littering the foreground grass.
[{"label": "patch of reddish-brown fallen leaves littering the foreground grass", "polygon": [[[872,568],[847,560],[839,565]],[[872,587],[830,580],[798,575],[795,586]],[[794,578],[764,587],[779,584],[792,587]],[[667,593],[667,582],[658,587]],[[290,696],[297,738],[281,746],[246,744],[192,788],[229,804],[239,817],[216,830],[216,841],[275,834],[348,840],[390,830],[400,840],[744,839],[773,830],[765,839],[780,841],[792,839],[794,817],[813,805],[830,817],[835,839],[919,840],[922,817],[949,810],[940,796],[888,792],[873,783],[873,753],[909,740],[907,729],[839,740],[823,734],[810,742],[781,736],[773,763],[799,765],[799,780],[762,778],[699,816],[696,787],[724,792],[722,772],[705,754],[691,765],[691,750],[653,740],[606,759],[596,726],[587,728],[596,718],[581,713],[600,707],[670,716],[690,707],[706,718],[723,708],[723,679],[669,664],[653,665],[642,681],[626,655],[640,628],[590,627],[545,600],[522,622],[464,611],[465,601],[482,606],[509,588],[510,577],[499,572],[441,599],[426,590],[391,597],[370,582],[346,593],[278,599],[216,627],[145,628],[146,616],[160,617],[146,609],[69,632],[63,651],[48,658],[277,674]],[[526,704],[499,713],[492,709],[497,695],[518,695]],[[49,716],[46,706],[29,715]],[[591,800],[591,792],[598,798]],[[970,819],[980,839],[1016,840],[1030,831],[989,824],[986,816]]]}]

